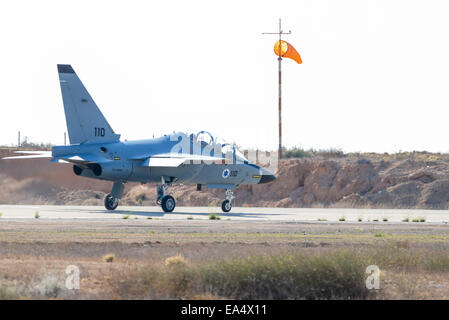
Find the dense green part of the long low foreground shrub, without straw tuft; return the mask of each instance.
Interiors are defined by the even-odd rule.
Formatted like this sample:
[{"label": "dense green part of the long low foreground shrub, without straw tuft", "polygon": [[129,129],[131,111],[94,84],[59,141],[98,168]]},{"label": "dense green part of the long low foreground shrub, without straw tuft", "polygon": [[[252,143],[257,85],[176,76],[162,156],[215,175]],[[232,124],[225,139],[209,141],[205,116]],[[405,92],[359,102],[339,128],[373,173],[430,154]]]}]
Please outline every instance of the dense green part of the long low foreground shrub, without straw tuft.
[{"label": "dense green part of the long low foreground shrub, without straw tuft", "polygon": [[201,268],[203,290],[232,299],[362,299],[364,268],[351,252],[252,256]]}]

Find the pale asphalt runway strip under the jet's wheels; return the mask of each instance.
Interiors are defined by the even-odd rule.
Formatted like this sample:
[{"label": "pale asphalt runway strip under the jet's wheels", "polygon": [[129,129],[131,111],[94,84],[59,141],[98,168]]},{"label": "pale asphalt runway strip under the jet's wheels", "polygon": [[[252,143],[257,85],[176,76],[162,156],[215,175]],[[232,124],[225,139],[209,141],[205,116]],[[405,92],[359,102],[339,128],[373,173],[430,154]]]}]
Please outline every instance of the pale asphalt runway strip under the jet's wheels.
[{"label": "pale asphalt runway strip under the jet's wheels", "polygon": [[[208,220],[211,213],[221,219],[246,221],[286,221],[286,222],[363,222],[397,223],[408,218],[425,219],[424,223],[447,224],[448,210],[418,209],[329,209],[329,208],[248,208],[234,207],[223,213],[218,207],[177,207],[172,213],[164,213],[160,207],[119,206],[107,211],[102,206],[51,206],[51,205],[0,205],[0,219],[164,219]],[[1,220],[0,220],[1,222]],[[422,223],[420,223],[422,224]]]}]

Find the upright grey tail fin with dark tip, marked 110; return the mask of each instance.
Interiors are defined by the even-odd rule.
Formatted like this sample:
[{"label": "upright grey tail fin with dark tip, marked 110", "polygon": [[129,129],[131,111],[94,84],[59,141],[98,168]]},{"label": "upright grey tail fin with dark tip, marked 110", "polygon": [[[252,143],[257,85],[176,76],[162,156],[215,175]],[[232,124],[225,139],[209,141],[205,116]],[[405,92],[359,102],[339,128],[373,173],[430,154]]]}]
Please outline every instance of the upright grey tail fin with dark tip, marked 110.
[{"label": "upright grey tail fin with dark tip, marked 110", "polygon": [[58,64],[58,73],[70,144],[119,141],[72,66]]}]

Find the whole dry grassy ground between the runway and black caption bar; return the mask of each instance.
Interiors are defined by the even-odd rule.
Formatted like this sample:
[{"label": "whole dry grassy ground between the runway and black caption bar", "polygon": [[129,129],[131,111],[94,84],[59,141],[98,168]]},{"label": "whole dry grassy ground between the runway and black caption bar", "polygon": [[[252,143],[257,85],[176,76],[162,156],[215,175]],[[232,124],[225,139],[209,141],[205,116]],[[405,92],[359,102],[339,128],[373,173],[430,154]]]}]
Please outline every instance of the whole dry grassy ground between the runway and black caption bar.
[{"label": "whole dry grassy ground between the runway and black caption bar", "polygon": [[[138,225],[98,222],[95,229],[90,224],[2,223],[0,298],[449,298],[445,226],[221,221],[217,229],[209,220],[146,219]],[[105,263],[101,257],[112,252],[120,258]],[[78,292],[64,286],[72,264],[81,272]],[[381,270],[378,291],[364,287],[368,265]]]}]

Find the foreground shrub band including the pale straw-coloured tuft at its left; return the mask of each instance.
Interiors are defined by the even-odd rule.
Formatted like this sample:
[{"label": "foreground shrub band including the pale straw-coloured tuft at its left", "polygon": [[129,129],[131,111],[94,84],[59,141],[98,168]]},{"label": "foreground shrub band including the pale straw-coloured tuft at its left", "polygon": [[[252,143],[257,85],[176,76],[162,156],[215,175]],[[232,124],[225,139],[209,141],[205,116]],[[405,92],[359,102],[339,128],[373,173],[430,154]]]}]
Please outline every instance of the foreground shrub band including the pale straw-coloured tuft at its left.
[{"label": "foreground shrub band including the pale straw-coloured tuft at its left", "polygon": [[363,299],[366,266],[350,251],[254,255],[190,265],[178,255],[118,285],[122,297],[230,299]]}]

